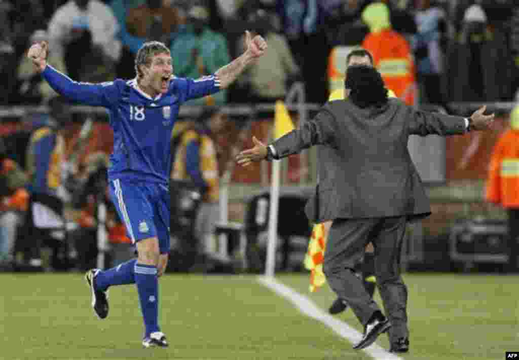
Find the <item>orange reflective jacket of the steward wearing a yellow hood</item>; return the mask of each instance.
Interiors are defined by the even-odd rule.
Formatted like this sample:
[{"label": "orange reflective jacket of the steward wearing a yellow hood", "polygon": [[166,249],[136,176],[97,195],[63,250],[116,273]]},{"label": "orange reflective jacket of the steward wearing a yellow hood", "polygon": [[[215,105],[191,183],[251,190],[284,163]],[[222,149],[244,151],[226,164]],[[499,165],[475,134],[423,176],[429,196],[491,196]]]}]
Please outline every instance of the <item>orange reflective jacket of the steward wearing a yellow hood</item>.
[{"label": "orange reflective jacket of the steward wearing a yellow hood", "polygon": [[375,68],[388,89],[407,105],[415,104],[415,64],[411,48],[399,33],[385,29],[366,35],[362,47],[373,55]]}]

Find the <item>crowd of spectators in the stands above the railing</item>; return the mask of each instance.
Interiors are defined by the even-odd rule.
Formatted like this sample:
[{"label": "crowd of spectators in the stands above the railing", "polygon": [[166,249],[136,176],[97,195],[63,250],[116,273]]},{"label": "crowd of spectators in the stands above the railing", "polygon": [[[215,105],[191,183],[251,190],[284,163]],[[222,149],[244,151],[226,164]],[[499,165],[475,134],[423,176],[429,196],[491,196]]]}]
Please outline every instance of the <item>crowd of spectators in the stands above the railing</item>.
[{"label": "crowd of spectators in the stands above the railing", "polygon": [[[387,6],[387,23],[380,8],[366,11],[373,3]],[[296,79],[308,102],[323,103],[333,49],[365,45],[389,28],[409,47],[425,102],[511,100],[518,84],[512,0],[2,0],[0,17],[3,105],[52,96],[23,56],[32,42],[46,39],[49,63],[78,81],[133,77],[134,55],[150,39],[170,47],[178,76],[198,77],[239,54],[246,29],[268,37],[269,57],[235,88],[197,104],[282,98]]]}]

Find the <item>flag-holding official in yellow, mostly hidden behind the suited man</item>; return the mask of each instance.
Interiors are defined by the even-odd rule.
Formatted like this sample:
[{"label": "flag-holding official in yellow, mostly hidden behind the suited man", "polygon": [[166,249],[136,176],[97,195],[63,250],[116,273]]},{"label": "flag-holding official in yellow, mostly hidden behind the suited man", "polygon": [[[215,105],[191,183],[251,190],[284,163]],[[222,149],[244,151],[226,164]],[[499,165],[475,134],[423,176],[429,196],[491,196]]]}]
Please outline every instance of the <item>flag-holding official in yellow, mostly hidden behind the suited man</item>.
[{"label": "flag-holding official in yellow, mostly hidden behind the suited man", "polygon": [[[346,58],[346,68],[351,65],[369,65],[373,66],[373,57],[370,54],[369,51],[365,49],[354,49],[350,51]],[[346,79],[345,79],[346,80]],[[339,88],[330,94],[330,97],[328,101],[334,101],[334,100],[343,100],[349,96],[350,89],[346,88]],[[388,90],[388,96],[389,97],[396,97],[394,92],[391,90]],[[321,259],[322,257],[315,256],[316,249],[319,249],[320,246],[317,245],[319,239],[321,239],[321,244],[324,245],[322,249],[320,250],[322,254],[324,254],[324,250],[326,248],[326,237],[330,230],[330,226],[332,225],[332,221],[325,221],[319,224],[314,225],[314,229],[312,231],[312,238],[310,239],[310,243],[308,244],[308,254],[310,257],[313,257],[313,259]],[[319,228],[320,226],[320,228]],[[317,229],[319,228],[319,229]],[[322,236],[316,236],[316,233],[322,234]],[[318,250],[319,251],[319,250]],[[366,288],[368,294],[370,294],[371,297],[373,297],[373,294],[375,294],[375,256],[374,256],[375,249],[373,248],[373,245],[370,243],[366,246],[366,252],[364,255],[364,260],[362,265],[360,266],[360,274],[364,281],[364,287]],[[316,274],[316,272],[322,272],[322,267],[315,266],[316,264],[313,263],[311,259],[306,260],[307,268],[312,270],[311,275],[311,288],[315,288],[316,286],[322,285],[318,284],[319,281],[316,281],[319,279],[324,279],[324,274]],[[322,275],[322,276],[320,276]],[[343,312],[346,310],[348,305],[346,302],[340,298],[337,298],[333,304],[330,306],[329,312],[330,314],[338,314],[340,312]]]}]

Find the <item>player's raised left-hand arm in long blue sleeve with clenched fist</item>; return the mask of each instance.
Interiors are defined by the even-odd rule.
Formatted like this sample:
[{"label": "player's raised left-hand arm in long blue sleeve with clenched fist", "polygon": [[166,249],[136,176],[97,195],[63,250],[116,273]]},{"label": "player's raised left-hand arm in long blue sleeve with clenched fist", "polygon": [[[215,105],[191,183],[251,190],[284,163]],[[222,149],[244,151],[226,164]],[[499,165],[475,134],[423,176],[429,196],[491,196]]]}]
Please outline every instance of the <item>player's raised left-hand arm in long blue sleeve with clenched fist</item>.
[{"label": "player's raised left-hand arm in long blue sleeve with clenched fist", "polygon": [[31,46],[27,56],[32,60],[35,70],[42,74],[50,87],[70,100],[93,106],[110,106],[118,92],[113,83],[86,84],[73,81],[47,64],[48,44],[37,43]]}]

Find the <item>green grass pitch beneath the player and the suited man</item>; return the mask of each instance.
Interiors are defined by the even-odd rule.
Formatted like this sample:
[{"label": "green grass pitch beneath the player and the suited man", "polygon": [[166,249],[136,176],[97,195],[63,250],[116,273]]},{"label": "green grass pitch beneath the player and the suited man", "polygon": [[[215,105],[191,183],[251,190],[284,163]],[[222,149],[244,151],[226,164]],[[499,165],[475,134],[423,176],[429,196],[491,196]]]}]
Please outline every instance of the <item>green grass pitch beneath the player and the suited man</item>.
[{"label": "green grass pitch beneath the player and the suited man", "polygon": [[[308,275],[277,279],[322,309],[325,286]],[[519,350],[519,276],[406,274],[411,352],[405,359],[503,359]],[[298,312],[252,275],[160,279],[168,349],[142,349],[134,286],[110,290],[110,315],[94,316],[82,274],[0,274],[0,359],[370,359]],[[378,299],[378,296],[377,296]],[[338,318],[361,330],[351,311]],[[387,348],[385,335],[377,342]]]}]

